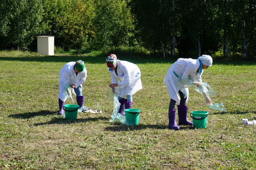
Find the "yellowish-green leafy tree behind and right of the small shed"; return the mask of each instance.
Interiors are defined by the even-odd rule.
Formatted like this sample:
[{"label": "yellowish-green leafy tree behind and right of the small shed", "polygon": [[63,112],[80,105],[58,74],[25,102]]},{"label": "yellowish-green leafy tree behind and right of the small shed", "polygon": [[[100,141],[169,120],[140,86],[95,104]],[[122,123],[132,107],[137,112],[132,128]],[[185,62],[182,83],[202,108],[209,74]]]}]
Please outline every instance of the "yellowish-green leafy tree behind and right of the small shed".
[{"label": "yellowish-green leafy tree behind and right of the small shed", "polygon": [[91,0],[46,0],[45,4],[45,33],[54,35],[64,49],[84,48],[93,35]]}]

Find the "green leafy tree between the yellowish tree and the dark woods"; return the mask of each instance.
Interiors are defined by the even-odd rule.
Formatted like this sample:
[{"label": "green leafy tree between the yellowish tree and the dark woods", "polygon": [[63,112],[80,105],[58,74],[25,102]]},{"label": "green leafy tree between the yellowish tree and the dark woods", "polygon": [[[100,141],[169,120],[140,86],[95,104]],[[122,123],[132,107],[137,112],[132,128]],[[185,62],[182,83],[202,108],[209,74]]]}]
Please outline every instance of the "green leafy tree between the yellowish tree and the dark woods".
[{"label": "green leafy tree between the yellowish tree and the dark woods", "polygon": [[95,1],[93,47],[107,50],[111,46],[133,45],[133,29],[129,9],[124,0]]}]

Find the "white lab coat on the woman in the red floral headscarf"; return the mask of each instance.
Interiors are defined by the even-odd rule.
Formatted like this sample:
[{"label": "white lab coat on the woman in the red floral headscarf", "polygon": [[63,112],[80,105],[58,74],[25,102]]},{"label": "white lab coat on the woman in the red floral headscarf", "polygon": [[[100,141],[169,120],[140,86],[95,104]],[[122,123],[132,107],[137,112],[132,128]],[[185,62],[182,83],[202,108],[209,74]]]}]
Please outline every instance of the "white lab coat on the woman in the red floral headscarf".
[{"label": "white lab coat on the woman in the red floral headscarf", "polygon": [[141,71],[136,64],[127,61],[117,60],[117,75],[115,70],[109,68],[112,83],[117,83],[117,79],[120,82],[117,83],[118,96],[124,98],[124,95],[133,95],[140,89],[141,84]]}]

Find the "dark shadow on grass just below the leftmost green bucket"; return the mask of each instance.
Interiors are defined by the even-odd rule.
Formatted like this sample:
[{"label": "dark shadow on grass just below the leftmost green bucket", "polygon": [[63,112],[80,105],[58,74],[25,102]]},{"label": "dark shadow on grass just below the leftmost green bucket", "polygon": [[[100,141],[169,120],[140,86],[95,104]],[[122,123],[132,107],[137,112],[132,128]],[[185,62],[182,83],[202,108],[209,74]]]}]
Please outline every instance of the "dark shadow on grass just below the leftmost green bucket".
[{"label": "dark shadow on grass just below the leftmost green bucket", "polygon": [[67,120],[64,117],[54,117],[52,120],[48,122],[36,123],[34,125],[40,126],[40,125],[50,125],[50,124],[73,124],[73,123],[99,121],[99,120],[108,120],[108,118],[107,117],[90,117],[85,119]]}]

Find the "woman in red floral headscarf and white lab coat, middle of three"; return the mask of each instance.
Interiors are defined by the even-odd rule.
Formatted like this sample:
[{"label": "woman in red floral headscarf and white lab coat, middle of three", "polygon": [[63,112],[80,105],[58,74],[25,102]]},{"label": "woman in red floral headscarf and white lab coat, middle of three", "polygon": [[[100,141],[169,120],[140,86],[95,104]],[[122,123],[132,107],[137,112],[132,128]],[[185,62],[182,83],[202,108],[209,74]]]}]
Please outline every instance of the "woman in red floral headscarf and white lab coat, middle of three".
[{"label": "woman in red floral headscarf and white lab coat, middle of three", "polygon": [[[118,113],[124,116],[124,110],[132,108],[132,95],[142,89],[141,71],[136,64],[118,60],[115,54],[107,57],[106,64],[112,79],[109,87],[115,91],[116,86],[119,86],[117,95],[120,108]],[[120,79],[119,83],[117,79]]]}]

